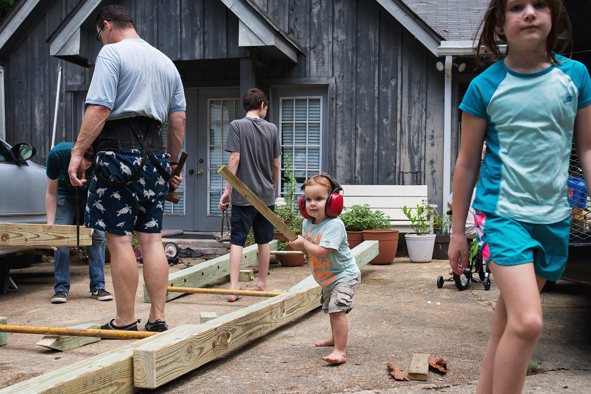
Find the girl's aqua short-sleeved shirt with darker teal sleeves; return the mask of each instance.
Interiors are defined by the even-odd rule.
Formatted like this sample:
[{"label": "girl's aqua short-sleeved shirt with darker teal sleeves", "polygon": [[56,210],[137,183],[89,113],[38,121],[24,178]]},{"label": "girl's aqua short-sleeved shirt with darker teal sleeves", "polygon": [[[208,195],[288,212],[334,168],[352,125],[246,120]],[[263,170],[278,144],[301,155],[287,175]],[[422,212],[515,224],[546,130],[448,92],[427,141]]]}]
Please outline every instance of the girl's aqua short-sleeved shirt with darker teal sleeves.
[{"label": "girl's aqua short-sleeved shirt with darker teal sleeves", "polygon": [[522,74],[502,59],[470,82],[460,109],[488,121],[474,208],[534,224],[569,217],[574,118],[591,103],[591,79],[582,63],[556,60]]}]

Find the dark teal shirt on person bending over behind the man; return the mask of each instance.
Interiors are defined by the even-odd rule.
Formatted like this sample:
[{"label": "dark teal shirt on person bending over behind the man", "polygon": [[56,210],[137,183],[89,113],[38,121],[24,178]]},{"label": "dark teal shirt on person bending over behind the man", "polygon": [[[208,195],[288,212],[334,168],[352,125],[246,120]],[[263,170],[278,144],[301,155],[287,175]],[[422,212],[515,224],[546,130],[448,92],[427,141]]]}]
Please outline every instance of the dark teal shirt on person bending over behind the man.
[{"label": "dark teal shirt on person bending over behind the man", "polygon": [[[68,166],[72,158],[73,147],[74,143],[59,143],[47,155],[45,173],[49,179],[59,178],[57,182],[57,194],[60,196],[76,197],[76,188],[70,183],[70,176],[68,175]],[[92,177],[93,169],[95,169],[95,163],[92,163],[84,174],[86,182],[80,186],[80,196],[86,196],[88,193],[88,185],[90,185],[90,177]]]}]

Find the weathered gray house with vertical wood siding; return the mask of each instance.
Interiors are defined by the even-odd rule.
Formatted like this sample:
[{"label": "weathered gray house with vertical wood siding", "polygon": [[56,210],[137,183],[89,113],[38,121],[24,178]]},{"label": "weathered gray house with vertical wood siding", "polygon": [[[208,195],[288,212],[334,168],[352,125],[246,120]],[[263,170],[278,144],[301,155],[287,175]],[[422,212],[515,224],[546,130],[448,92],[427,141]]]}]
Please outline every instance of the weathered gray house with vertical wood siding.
[{"label": "weathered gray house with vertical wood siding", "polygon": [[[342,184],[428,185],[429,202],[444,206],[460,91],[476,75],[469,68],[459,75],[452,63],[470,57],[475,26],[446,37],[449,29],[438,25],[466,18],[441,21],[433,11],[460,8],[458,1],[429,8],[413,0],[21,0],[0,25],[3,138],[32,144],[39,164],[51,146],[60,66],[56,144],[80,130],[102,47],[92,22],[111,3],[129,9],[138,34],[183,79],[190,156],[183,202],[167,206],[168,228],[219,228],[215,169],[228,161],[226,131],[253,86],[267,92],[267,120],[280,128],[298,180],[320,170]],[[467,3],[483,12],[482,0]]]}]

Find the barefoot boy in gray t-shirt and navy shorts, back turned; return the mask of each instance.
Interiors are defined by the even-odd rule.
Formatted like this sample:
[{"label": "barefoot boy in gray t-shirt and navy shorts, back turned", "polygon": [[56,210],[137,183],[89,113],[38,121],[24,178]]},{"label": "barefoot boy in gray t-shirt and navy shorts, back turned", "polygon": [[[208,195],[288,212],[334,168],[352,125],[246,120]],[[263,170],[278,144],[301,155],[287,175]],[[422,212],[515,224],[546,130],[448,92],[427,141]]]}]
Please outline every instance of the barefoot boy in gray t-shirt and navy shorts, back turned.
[{"label": "barefoot boy in gray t-shirt and navy shorts, back turned", "polygon": [[[279,177],[279,156],[281,141],[277,126],[264,120],[267,115],[267,96],[261,89],[249,89],[245,93],[242,105],[246,117],[232,121],[226,140],[225,151],[230,152],[228,168],[261,201],[274,211],[275,189]],[[256,210],[232,186],[226,183],[226,189],[220,198],[219,209],[227,208],[232,203],[230,222],[230,289],[238,290],[238,274],[242,259],[242,248],[251,230],[259,250],[259,276],[256,286],[251,290],[268,291],[267,272],[271,250],[269,242],[275,238],[275,227]],[[229,295],[233,302],[241,296]]]}]

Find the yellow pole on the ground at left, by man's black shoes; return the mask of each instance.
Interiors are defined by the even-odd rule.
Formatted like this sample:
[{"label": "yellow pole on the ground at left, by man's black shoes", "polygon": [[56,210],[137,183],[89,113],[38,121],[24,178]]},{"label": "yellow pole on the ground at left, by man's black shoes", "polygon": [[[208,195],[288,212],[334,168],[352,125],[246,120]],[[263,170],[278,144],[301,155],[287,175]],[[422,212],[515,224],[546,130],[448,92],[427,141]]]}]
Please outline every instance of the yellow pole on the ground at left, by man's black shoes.
[{"label": "yellow pole on the ground at left, by man's black shoes", "polygon": [[0,332],[19,334],[68,335],[70,337],[96,337],[111,339],[143,339],[158,332],[126,330],[93,330],[90,328],[31,327],[27,325],[0,324]]}]

